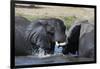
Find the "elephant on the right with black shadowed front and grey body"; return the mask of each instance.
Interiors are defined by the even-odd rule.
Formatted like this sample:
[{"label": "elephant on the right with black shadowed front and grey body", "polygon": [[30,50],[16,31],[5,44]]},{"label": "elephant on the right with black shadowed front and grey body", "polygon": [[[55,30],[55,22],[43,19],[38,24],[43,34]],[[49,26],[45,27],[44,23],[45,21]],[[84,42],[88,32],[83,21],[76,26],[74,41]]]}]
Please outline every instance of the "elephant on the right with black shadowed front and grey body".
[{"label": "elephant on the right with black shadowed front and grey body", "polygon": [[94,57],[94,24],[88,20],[74,23],[68,33],[68,44],[63,54],[77,54],[79,57]]}]

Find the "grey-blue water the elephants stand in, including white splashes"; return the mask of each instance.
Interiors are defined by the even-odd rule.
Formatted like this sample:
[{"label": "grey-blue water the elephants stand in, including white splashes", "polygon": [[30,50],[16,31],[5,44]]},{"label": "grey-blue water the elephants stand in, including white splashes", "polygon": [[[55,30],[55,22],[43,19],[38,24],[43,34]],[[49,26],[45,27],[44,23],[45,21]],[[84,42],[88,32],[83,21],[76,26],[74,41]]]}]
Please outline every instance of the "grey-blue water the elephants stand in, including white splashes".
[{"label": "grey-blue water the elephants stand in, including white splashes", "polygon": [[[37,65],[37,64],[52,64],[52,63],[68,63],[68,62],[82,62],[82,61],[94,61],[94,58],[79,58],[73,55],[64,56],[62,48],[55,46],[54,55],[43,56],[43,51],[39,56],[16,56],[15,65]],[[41,57],[42,56],[42,57]]]}]

